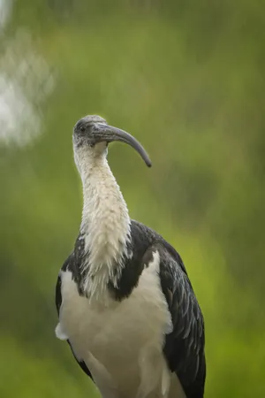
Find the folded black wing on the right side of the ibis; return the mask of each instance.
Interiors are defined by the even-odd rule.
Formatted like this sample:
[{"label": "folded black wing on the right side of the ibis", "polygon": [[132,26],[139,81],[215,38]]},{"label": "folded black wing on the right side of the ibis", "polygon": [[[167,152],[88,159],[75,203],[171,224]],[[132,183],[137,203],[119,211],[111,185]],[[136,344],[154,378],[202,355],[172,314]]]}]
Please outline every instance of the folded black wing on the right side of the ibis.
[{"label": "folded black wing on the right side of the ibis", "polygon": [[159,245],[160,278],[173,331],[166,335],[164,356],[175,371],[187,398],[202,398],[206,378],[204,320],[186,268],[167,242]]}]

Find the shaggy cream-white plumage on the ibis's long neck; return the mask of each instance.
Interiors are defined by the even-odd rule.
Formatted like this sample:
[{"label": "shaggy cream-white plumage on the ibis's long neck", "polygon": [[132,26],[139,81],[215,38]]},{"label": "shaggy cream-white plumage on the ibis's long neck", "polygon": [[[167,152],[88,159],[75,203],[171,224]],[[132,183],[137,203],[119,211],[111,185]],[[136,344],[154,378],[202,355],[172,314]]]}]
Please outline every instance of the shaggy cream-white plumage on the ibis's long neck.
[{"label": "shaggy cream-white plumage on the ibis's long neck", "polygon": [[86,160],[81,171],[84,204],[80,233],[86,256],[81,272],[87,296],[99,298],[110,280],[117,284],[125,257],[130,256],[130,218],[106,157]]}]

